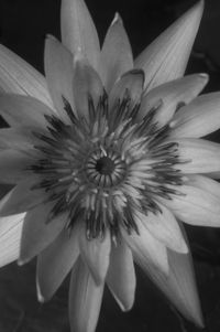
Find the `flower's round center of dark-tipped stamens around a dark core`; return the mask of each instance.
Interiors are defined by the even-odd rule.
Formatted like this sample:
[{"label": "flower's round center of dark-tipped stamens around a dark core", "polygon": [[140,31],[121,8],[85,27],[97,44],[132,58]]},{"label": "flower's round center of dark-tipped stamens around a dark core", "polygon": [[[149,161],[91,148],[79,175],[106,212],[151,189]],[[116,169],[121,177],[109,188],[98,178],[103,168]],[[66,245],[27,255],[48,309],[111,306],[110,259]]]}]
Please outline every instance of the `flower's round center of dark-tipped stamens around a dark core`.
[{"label": "flower's round center of dark-tipped stamens around a dark core", "polygon": [[77,118],[64,101],[70,124],[45,116],[47,133],[34,132],[42,153],[31,167],[40,175],[35,188],[54,202],[52,215],[68,212],[69,228],[84,222],[88,238],[107,229],[117,237],[121,227],[139,233],[136,211],[158,213],[157,197],[170,200],[183,183],[178,144],[166,140],[169,126],[154,118],[161,106],[140,121],[140,105],[129,95],[110,110],[105,98],[96,109],[90,100],[88,118]]}]

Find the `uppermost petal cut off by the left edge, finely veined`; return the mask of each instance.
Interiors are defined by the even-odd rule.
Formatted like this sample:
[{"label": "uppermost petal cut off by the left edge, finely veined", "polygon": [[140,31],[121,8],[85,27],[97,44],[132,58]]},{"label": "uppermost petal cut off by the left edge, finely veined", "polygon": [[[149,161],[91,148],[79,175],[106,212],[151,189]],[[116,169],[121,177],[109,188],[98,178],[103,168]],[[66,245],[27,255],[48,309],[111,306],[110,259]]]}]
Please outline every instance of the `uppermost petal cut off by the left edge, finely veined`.
[{"label": "uppermost petal cut off by the left edge, finely veined", "polygon": [[3,45],[0,45],[0,90],[29,95],[53,106],[44,76]]}]

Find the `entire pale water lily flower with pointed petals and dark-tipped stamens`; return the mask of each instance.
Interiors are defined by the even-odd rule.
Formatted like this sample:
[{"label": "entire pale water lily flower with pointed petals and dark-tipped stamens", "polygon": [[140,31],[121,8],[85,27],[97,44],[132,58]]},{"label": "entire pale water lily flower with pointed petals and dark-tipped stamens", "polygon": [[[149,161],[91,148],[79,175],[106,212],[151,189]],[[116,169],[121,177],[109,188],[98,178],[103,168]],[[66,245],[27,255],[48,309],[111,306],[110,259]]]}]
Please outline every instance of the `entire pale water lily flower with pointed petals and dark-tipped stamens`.
[{"label": "entire pale water lily flower with pointed petals and dark-tipped stamens", "polygon": [[72,331],[96,329],[107,285],[124,311],[134,261],[197,325],[202,315],[183,222],[220,226],[220,93],[183,77],[204,1],[138,58],[119,14],[100,49],[82,0],[62,1],[45,77],[0,46],[0,265],[37,256],[40,301],[70,272]]}]

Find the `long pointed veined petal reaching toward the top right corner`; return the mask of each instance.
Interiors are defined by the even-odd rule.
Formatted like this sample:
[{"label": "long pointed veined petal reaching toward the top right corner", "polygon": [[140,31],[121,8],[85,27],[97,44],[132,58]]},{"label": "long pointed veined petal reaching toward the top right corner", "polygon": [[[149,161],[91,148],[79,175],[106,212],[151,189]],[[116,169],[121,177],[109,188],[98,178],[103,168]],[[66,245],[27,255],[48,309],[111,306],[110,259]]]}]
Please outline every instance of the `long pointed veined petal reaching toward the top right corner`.
[{"label": "long pointed veined petal reaching toward the top right corner", "polygon": [[146,74],[145,86],[147,89],[183,76],[202,10],[204,1],[199,1],[135,60],[135,67],[143,68]]}]

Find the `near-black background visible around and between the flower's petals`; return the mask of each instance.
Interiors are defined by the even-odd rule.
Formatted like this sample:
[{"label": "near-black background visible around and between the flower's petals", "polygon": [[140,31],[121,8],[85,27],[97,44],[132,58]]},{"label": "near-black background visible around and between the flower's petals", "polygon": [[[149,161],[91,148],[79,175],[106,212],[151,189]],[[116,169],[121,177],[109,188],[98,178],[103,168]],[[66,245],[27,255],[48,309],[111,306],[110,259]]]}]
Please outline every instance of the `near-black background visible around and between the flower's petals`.
[{"label": "near-black background visible around and between the flower's petals", "polygon": [[[134,56],[188,9],[191,0],[87,0],[101,41],[118,11],[129,33]],[[43,72],[46,33],[59,38],[59,0],[0,0],[0,42]],[[220,89],[220,1],[207,0],[201,28],[187,73],[206,72],[206,92]],[[216,132],[211,139],[219,141]],[[220,331],[220,233],[187,227],[207,328]],[[68,332],[68,280],[54,299],[40,304],[35,296],[35,261],[0,270],[0,332]],[[138,270],[134,308],[122,313],[108,290],[105,293],[97,332],[196,332],[164,300]]]}]

